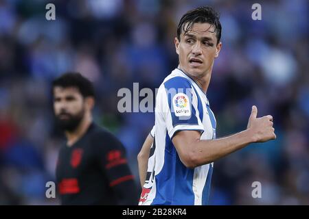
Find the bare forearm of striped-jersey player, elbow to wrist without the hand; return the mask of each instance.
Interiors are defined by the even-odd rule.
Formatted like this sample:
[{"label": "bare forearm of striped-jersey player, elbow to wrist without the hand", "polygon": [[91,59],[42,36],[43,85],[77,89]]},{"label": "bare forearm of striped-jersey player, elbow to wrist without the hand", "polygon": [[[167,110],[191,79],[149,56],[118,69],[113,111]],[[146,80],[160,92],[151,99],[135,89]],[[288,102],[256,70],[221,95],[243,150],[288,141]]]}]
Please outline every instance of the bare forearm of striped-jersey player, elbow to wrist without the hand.
[{"label": "bare forearm of striped-jersey player, elbow to wrist without the hand", "polygon": [[249,129],[217,140],[196,140],[192,144],[194,166],[209,164],[254,142]]}]

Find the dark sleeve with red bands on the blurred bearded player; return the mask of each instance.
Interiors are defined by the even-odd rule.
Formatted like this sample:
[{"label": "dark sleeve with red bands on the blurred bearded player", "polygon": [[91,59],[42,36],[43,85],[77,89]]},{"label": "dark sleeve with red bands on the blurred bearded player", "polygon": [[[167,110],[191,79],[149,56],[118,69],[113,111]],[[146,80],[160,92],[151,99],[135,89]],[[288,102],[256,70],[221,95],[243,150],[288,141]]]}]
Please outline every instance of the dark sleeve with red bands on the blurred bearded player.
[{"label": "dark sleeve with red bands on the blurred bearded player", "polygon": [[108,185],[115,192],[119,205],[137,205],[138,191],[128,166],[122,143],[111,133],[100,133],[93,138],[95,159],[106,175]]}]

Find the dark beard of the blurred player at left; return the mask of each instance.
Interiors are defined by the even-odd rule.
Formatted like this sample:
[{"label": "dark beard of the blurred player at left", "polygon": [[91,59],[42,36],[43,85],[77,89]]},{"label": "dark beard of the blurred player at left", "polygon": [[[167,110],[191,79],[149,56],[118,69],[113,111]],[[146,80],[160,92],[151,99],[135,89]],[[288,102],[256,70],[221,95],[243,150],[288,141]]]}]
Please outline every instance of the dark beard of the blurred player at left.
[{"label": "dark beard of the blurred player at left", "polygon": [[67,120],[61,120],[59,116],[60,115],[56,116],[56,124],[58,127],[64,131],[73,132],[78,128],[82,119],[84,118],[84,109],[75,116],[67,114],[67,116],[69,116],[69,119]]}]

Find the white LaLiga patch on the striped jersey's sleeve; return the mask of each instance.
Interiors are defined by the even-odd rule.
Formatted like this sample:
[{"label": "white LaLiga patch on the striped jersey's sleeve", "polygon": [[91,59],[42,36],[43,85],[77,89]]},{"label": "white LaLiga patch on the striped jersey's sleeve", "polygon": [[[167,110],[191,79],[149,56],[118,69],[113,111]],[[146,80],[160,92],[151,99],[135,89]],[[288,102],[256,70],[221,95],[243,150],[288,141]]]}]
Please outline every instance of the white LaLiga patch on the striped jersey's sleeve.
[{"label": "white LaLiga patch on the striped jersey's sleeve", "polygon": [[175,116],[191,116],[189,98],[186,94],[179,93],[173,97]]}]

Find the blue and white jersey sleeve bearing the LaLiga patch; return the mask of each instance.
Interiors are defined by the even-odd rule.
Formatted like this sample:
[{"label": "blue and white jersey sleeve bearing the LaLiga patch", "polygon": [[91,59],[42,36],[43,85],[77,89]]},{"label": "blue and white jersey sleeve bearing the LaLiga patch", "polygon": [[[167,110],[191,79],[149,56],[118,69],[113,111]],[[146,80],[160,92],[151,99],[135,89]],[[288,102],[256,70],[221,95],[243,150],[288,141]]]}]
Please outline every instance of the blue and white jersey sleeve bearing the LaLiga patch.
[{"label": "blue and white jersey sleeve bearing the LaLiga patch", "polygon": [[192,84],[185,77],[173,77],[164,83],[159,96],[168,135],[172,139],[177,131],[196,130],[203,133],[204,127],[198,112],[198,100]]}]

